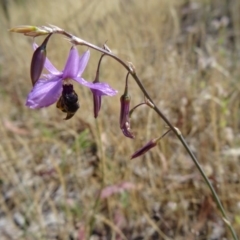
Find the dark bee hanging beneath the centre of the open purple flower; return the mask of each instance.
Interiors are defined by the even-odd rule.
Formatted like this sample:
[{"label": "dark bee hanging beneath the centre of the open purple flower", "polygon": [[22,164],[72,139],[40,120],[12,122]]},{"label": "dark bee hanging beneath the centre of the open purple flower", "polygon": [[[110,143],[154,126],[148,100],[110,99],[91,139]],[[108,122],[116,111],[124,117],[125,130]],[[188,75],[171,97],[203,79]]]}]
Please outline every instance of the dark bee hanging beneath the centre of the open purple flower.
[{"label": "dark bee hanging beneath the centre of the open purple flower", "polygon": [[67,113],[65,120],[74,116],[80,106],[78,103],[78,95],[73,90],[73,85],[63,85],[62,95],[57,101],[56,107],[62,112]]}]

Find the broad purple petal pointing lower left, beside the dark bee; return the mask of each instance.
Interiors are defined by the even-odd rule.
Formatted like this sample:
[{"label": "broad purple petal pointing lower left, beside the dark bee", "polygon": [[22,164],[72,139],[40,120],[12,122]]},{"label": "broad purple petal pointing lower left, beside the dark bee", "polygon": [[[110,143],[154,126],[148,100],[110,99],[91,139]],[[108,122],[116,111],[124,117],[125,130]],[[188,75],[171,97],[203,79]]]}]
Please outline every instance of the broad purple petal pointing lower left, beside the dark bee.
[{"label": "broad purple petal pointing lower left, beside the dark bee", "polygon": [[42,108],[55,103],[62,92],[62,78],[54,76],[52,79],[39,79],[28,94],[26,106]]}]

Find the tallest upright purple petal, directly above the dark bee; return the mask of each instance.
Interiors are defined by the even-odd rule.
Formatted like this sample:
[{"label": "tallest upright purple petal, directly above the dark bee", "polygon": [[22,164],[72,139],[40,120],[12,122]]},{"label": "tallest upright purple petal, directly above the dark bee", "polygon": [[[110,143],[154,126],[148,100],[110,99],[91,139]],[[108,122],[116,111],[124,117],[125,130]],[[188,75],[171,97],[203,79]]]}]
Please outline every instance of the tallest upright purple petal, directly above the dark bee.
[{"label": "tallest upright purple petal, directly above the dark bee", "polygon": [[63,79],[66,78],[74,78],[78,75],[79,68],[79,56],[76,47],[72,47],[67,62],[65,64],[65,68],[63,70]]}]

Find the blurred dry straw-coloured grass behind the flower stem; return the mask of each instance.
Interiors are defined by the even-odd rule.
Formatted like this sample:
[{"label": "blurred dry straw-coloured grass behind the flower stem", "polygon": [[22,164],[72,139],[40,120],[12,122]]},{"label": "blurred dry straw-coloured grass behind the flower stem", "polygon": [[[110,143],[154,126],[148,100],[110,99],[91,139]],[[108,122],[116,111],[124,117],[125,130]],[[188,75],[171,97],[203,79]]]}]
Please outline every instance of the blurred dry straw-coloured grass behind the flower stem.
[{"label": "blurred dry straw-coloured grass behind the flower stem", "polygon": [[[0,0],[1,239],[231,239],[213,197],[173,134],[146,106],[134,111],[134,140],[119,128],[126,70],[105,57],[97,120],[92,94],[65,121],[53,105],[25,107],[32,39],[17,25],[54,24],[134,64],[155,103],[186,137],[240,234],[240,2],[237,0]],[[40,44],[43,37],[36,39]],[[70,44],[54,35],[48,57],[61,70]],[[86,50],[78,47],[79,52]],[[100,54],[83,77],[93,81]],[[143,94],[129,79],[131,106]],[[99,194],[101,193],[101,195]],[[100,196],[100,197],[99,197]]]}]

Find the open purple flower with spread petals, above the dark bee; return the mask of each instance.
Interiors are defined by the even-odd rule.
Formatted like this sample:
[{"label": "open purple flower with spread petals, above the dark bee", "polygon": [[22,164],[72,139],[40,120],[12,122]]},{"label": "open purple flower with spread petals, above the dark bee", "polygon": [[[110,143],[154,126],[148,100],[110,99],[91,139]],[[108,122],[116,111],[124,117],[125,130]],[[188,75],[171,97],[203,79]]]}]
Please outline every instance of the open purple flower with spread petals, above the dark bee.
[{"label": "open purple flower with spread petals, above the dark bee", "polygon": [[[38,46],[34,44],[34,49]],[[49,74],[43,75],[34,85],[28,94],[26,106],[29,108],[43,108],[58,101],[62,94],[63,85],[70,84],[71,80],[82,84],[91,90],[97,91],[99,96],[114,96],[117,91],[106,83],[90,83],[84,80],[81,75],[87,66],[90,51],[86,51],[81,57],[76,47],[72,47],[63,71],[58,71],[46,58],[44,67]]]}]

